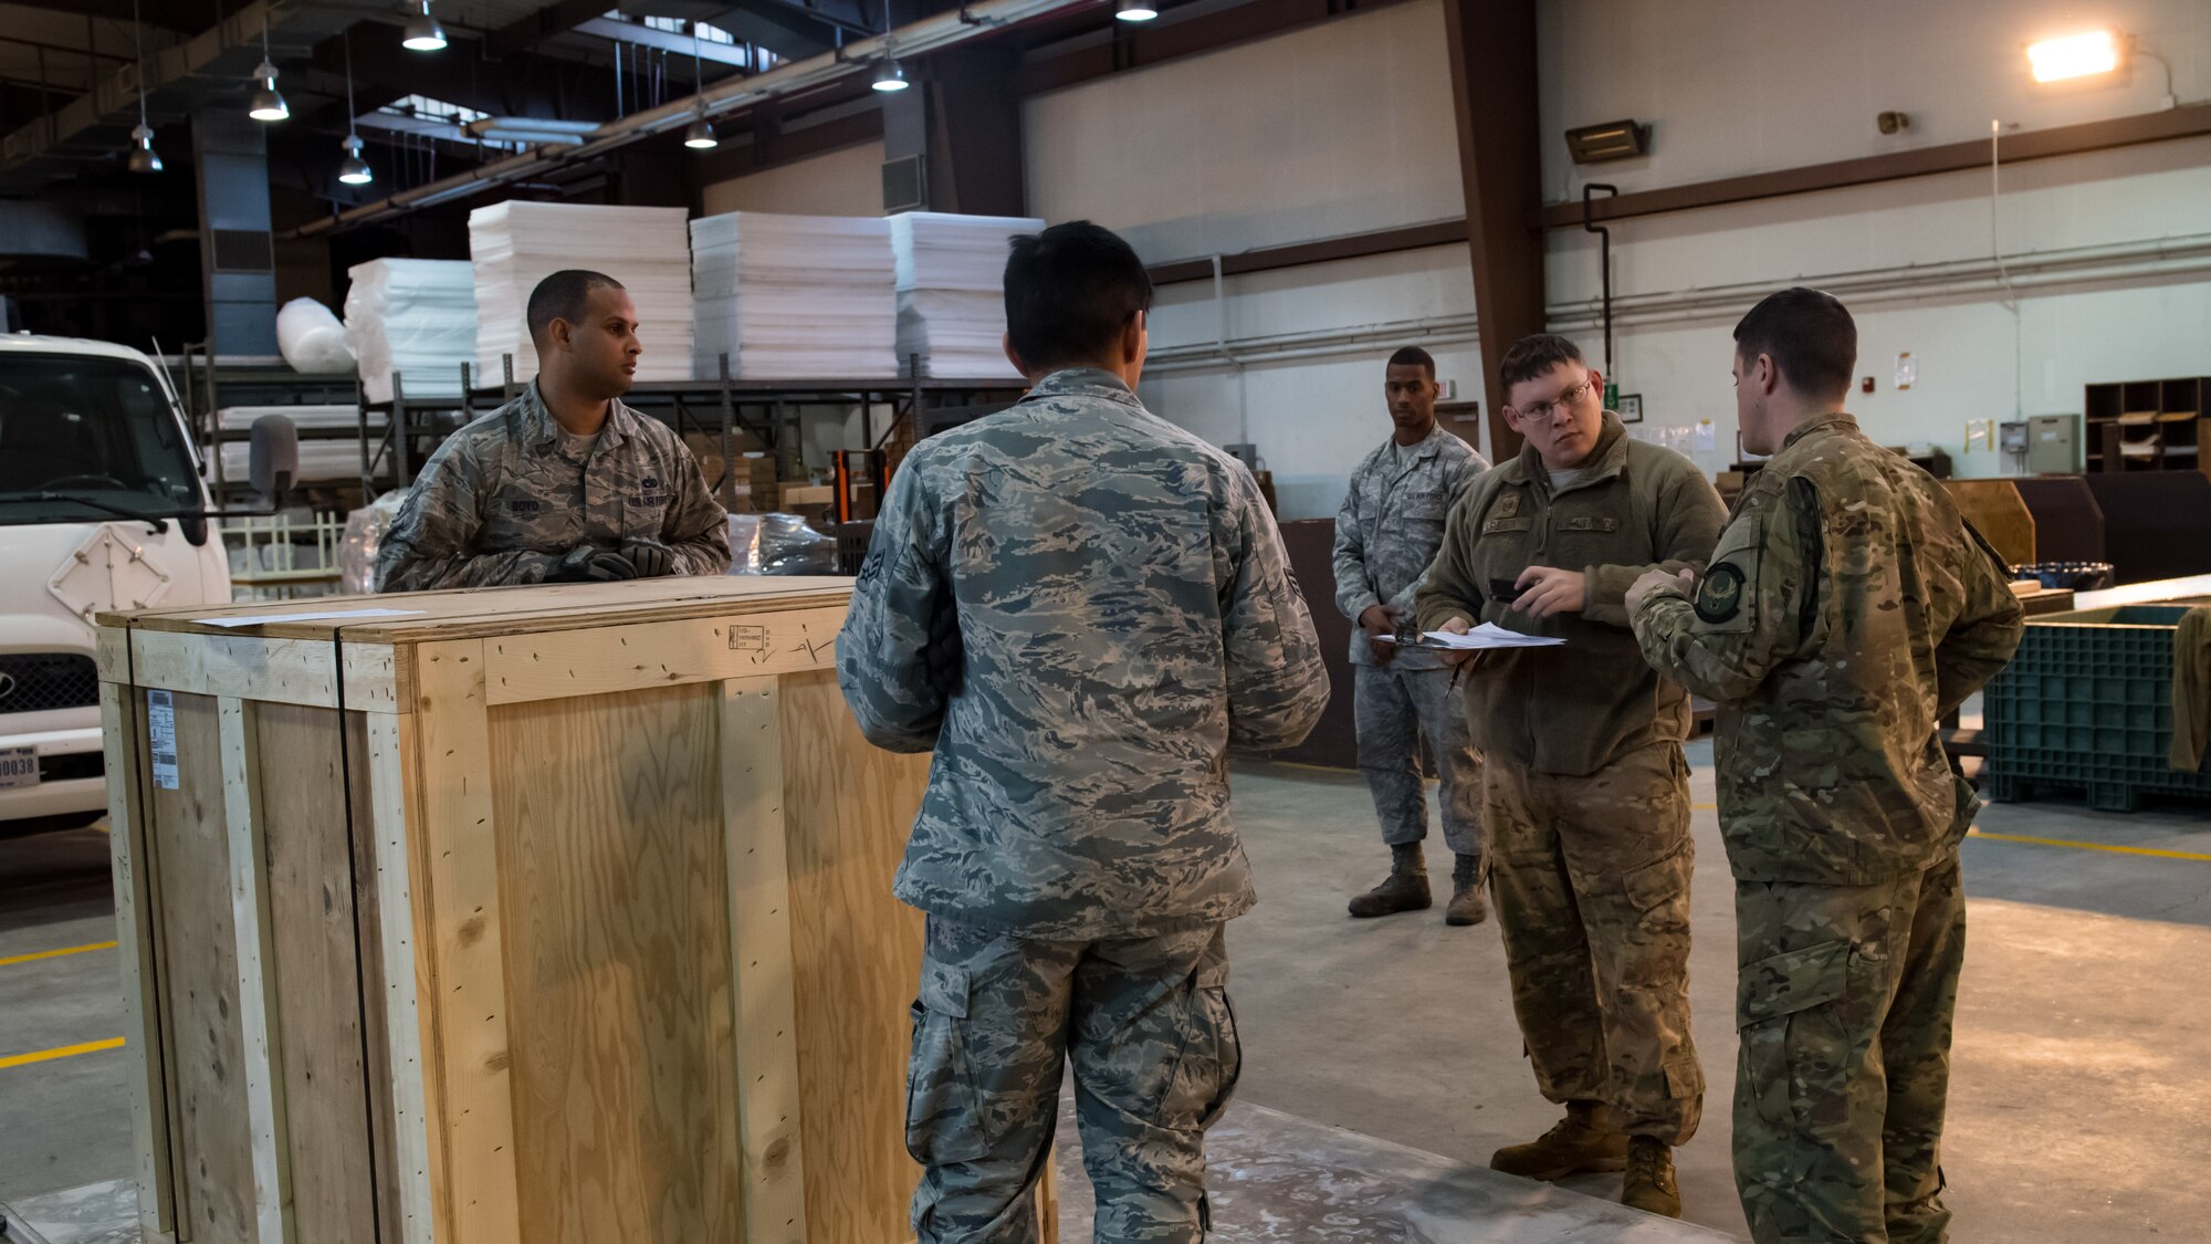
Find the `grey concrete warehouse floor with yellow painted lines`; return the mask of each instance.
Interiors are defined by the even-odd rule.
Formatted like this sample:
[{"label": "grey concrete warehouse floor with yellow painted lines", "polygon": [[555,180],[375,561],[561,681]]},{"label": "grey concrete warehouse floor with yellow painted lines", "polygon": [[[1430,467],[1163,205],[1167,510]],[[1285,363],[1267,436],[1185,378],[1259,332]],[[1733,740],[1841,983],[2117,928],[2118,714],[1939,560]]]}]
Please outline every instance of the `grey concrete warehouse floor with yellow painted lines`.
[{"label": "grey concrete warehouse floor with yellow painted lines", "polygon": [[[1691,996],[1709,1096],[1705,1129],[1678,1162],[1687,1217],[1742,1233],[1727,1160],[1731,888],[1709,744],[1689,757],[1700,852]],[[1236,815],[1260,888],[1258,910],[1229,930],[1247,1045],[1238,1100],[1262,1109],[1238,1109],[1218,1138],[1216,1184],[1229,1193],[1218,1235],[1304,1237],[1238,1222],[1238,1206],[1267,1202],[1251,1191],[1245,1153],[1278,1153],[1296,1138],[1344,1169],[1402,1162],[1391,1173],[1426,1189],[1422,1213],[1391,1229],[1375,1220],[1373,1240],[1457,1240],[1453,1224],[1477,1222],[1488,1237],[1488,1220],[1470,1215],[1488,1213],[1495,1195],[1464,1167],[1557,1113],[1519,1054],[1495,925],[1453,930],[1439,912],[1344,916],[1344,899],[1386,861],[1353,775],[1240,766]],[[2211,1069],[2198,1056],[2211,1029],[2198,987],[2211,963],[2211,817],[2187,806],[2109,817],[2021,804],[1990,808],[1981,832],[1966,846],[1972,947],[1946,1149],[1952,1237],[2211,1237]],[[115,950],[77,950],[113,936],[102,832],[0,841],[0,1202],[128,1173],[126,1054],[20,1062],[122,1034]],[[53,950],[77,952],[20,958]],[[1331,1140],[1324,1129],[1360,1136]],[[1066,1167],[1079,1180],[1075,1171]],[[1610,1198],[1618,1178],[1568,1186]],[[1068,1202],[1079,1204],[1081,1189]],[[1618,1211],[1587,1213],[1618,1222]]]}]

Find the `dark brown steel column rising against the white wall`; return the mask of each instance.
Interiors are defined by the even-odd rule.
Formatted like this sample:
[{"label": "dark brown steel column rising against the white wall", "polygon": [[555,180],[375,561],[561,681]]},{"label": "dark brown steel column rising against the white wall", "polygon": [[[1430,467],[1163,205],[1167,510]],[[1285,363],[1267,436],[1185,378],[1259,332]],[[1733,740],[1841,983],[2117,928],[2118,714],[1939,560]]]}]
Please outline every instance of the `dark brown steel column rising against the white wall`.
[{"label": "dark brown steel column rising against the white wall", "polygon": [[1506,427],[1497,367],[1515,341],[1545,328],[1534,0],[1444,0],[1444,31],[1490,454],[1503,460],[1519,452],[1521,438]]}]

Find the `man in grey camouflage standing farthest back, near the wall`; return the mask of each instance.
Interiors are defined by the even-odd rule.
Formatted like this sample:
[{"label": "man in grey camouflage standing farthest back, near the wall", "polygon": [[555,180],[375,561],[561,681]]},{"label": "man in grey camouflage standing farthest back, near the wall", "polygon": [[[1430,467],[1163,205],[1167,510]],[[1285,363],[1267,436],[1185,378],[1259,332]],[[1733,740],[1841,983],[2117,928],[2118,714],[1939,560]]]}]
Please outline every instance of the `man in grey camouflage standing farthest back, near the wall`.
[{"label": "man in grey camouflage standing farthest back, near the wall", "polygon": [[1466,485],[1490,469],[1466,440],[1435,423],[1435,359],[1417,345],[1391,354],[1384,396],[1395,432],[1351,471],[1335,516],[1335,607],[1351,631],[1358,677],[1353,719],[1360,773],[1375,797],[1389,879],[1351,899],[1353,916],[1419,912],[1428,896],[1428,801],[1419,777],[1426,735],[1442,777],[1444,843],[1457,863],[1444,923],[1477,925],[1481,905],[1481,755],[1466,733],[1466,708],[1450,693],[1450,668],[1426,649],[1397,649],[1413,620],[1413,589],[1444,542],[1444,518]]}]

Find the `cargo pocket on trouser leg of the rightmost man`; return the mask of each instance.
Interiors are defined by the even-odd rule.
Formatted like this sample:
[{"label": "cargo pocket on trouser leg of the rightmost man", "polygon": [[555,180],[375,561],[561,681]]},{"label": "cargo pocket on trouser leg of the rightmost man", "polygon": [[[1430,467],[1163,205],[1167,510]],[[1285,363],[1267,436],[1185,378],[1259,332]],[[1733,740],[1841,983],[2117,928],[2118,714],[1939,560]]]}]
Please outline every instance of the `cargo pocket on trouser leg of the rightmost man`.
[{"label": "cargo pocket on trouser leg of the rightmost man", "polygon": [[1736,1025],[1749,1082],[1740,1091],[1767,1124],[1791,1127],[1822,1100],[1840,1105],[1855,1062],[1846,1018],[1859,963],[1851,941],[1837,939],[1742,967]]}]

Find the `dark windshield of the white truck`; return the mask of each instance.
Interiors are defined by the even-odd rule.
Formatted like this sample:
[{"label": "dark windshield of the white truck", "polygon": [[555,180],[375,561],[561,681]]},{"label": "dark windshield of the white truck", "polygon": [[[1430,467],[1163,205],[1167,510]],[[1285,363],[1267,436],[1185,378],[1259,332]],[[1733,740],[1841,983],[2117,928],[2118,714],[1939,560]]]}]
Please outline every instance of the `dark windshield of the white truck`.
[{"label": "dark windshield of the white truck", "polygon": [[0,352],[0,525],[199,505],[192,454],[153,372],[126,359]]}]

